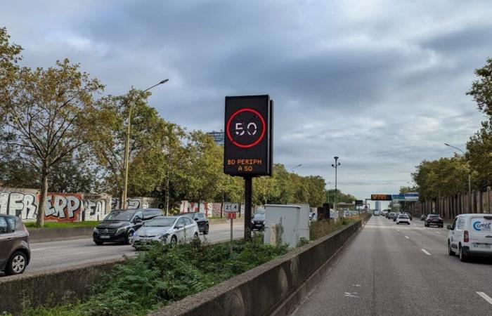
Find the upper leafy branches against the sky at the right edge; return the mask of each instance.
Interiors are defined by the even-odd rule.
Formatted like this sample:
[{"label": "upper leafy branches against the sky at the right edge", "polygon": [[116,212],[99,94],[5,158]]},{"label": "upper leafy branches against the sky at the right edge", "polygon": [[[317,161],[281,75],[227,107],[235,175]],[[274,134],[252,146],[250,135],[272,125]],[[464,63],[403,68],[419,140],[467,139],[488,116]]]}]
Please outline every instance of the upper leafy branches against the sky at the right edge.
[{"label": "upper leafy branches against the sky at the right edge", "polygon": [[475,74],[479,79],[473,81],[467,95],[472,96],[479,110],[492,119],[492,58],[487,58],[486,65],[475,70]]}]

